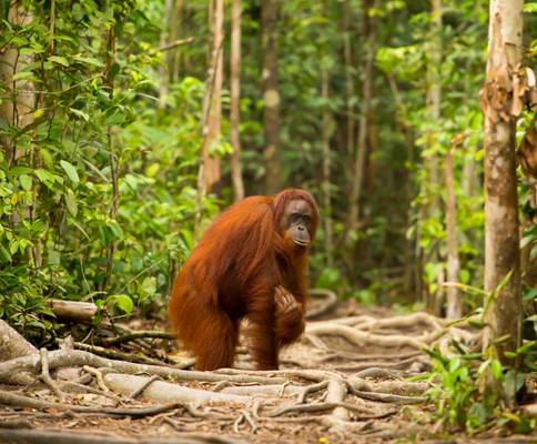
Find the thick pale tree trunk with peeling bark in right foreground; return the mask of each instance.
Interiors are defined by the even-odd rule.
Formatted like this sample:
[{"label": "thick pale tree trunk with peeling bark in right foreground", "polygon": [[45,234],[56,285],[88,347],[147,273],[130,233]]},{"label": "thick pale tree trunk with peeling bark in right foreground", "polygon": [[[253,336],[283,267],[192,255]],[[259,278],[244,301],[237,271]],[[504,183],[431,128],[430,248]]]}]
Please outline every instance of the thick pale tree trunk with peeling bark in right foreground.
[{"label": "thick pale tree trunk with peeling bark in right foreground", "polygon": [[[487,77],[482,90],[485,114],[485,291],[484,350],[499,356],[519,344],[520,252],[515,123],[520,112],[517,84],[523,47],[523,0],[490,0]],[[516,91],[518,92],[518,91]],[[510,276],[505,283],[505,280]],[[498,285],[504,282],[500,289]]]}]

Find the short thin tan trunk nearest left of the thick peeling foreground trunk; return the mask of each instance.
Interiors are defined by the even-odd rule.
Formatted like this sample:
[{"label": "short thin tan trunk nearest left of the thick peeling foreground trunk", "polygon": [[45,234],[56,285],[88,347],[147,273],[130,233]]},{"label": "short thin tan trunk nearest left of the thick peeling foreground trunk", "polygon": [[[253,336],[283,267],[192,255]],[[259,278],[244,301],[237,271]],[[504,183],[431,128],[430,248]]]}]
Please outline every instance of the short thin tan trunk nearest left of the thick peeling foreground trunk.
[{"label": "short thin tan trunk nearest left of the thick peeling foreground trunk", "polygon": [[[455,145],[447,152],[445,178],[446,178],[446,230],[447,230],[447,281],[458,282],[458,229],[457,229],[457,202],[455,196],[455,180],[453,173],[453,157]],[[449,320],[463,316],[463,303],[456,286],[447,289],[447,312]]]}]

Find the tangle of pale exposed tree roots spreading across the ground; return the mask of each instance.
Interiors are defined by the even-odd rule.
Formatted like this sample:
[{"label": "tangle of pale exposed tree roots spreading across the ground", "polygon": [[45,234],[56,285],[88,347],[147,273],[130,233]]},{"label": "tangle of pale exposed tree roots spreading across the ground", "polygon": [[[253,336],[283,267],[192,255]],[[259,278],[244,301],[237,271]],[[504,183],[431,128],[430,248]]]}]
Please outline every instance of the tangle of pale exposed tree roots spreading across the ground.
[{"label": "tangle of pale exposed tree roots spreading across the ground", "polygon": [[[326,302],[313,315],[330,311],[333,299],[333,294],[327,294]],[[144,337],[168,339],[163,332],[150,333],[126,332],[109,344],[138,343]],[[344,347],[348,349],[351,344],[354,349],[346,352],[334,347],[337,336],[344,340],[340,340]],[[132,362],[131,353],[110,353],[107,349],[80,344],[75,346],[88,347],[95,354],[73,350],[69,345],[51,352],[43,350],[41,354],[0,362],[0,383],[31,384],[33,389],[36,382],[41,382],[39,387],[44,387],[33,396],[31,393],[22,395],[0,391],[0,404],[39,410],[24,416],[32,418],[55,415],[65,420],[68,414],[73,415],[74,422],[82,415],[146,417],[144,421],[149,424],[160,424],[174,431],[174,436],[181,436],[179,442],[183,442],[182,436],[186,440],[184,442],[236,442],[233,438],[195,441],[197,438],[184,435],[185,431],[201,424],[249,435],[267,433],[282,423],[296,424],[295,428],[303,424],[328,430],[342,442],[352,442],[356,434],[371,434],[377,438],[383,434],[401,435],[397,426],[389,424],[401,420],[401,412],[405,411],[402,406],[426,403],[424,393],[429,385],[405,380],[430,367],[429,359],[422,349],[434,341],[439,341],[445,347],[449,347],[453,341],[457,342],[457,346],[470,347],[476,341],[474,333],[426,313],[382,319],[359,315],[311,322],[305,337],[313,346],[306,346],[304,341],[297,349],[302,347],[306,353],[313,351],[308,359],[304,359],[304,354],[285,352],[282,362],[293,365],[293,369],[264,372],[244,369],[186,371],[156,360]],[[358,353],[364,345],[375,354]],[[382,353],[383,349],[386,353]],[[241,367],[252,365],[243,347],[239,350],[237,360]],[[71,376],[63,381],[60,374],[67,369],[71,370]],[[67,393],[70,396],[65,396]],[[77,396],[81,396],[84,405],[75,405]],[[152,404],[148,406],[142,402]],[[391,417],[389,423],[382,421],[386,417]],[[11,422],[20,420],[9,414],[4,418]],[[55,432],[42,432],[42,435],[27,436],[24,442],[45,443],[51,442],[52,436],[57,437]],[[179,432],[181,435],[176,435]],[[93,443],[93,437],[81,435],[69,442]],[[191,438],[194,441],[188,441]],[[23,442],[22,437],[20,440]],[[122,443],[121,440],[123,437],[112,436],[107,442]]]}]

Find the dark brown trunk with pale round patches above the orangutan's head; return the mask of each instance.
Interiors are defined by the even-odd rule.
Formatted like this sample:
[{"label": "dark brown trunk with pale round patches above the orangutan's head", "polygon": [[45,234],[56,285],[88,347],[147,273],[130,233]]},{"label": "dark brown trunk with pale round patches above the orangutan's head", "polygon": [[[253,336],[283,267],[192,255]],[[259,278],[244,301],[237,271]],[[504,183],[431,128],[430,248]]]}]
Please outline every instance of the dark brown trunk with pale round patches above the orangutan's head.
[{"label": "dark brown trunk with pale round patches above the orangutan's head", "polygon": [[265,189],[272,195],[278,191],[280,164],[280,91],[277,85],[277,10],[278,0],[263,0],[261,6],[263,50],[263,127],[265,137]]}]

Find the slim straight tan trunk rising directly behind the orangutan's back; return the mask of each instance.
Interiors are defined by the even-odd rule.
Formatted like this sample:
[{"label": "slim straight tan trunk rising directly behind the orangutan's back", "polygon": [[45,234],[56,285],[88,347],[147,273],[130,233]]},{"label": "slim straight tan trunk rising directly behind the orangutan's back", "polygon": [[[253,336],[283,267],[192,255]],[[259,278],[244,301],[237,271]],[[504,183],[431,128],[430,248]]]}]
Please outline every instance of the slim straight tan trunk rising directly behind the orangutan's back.
[{"label": "slim straight tan trunk rising directly behind the orangutan's back", "polygon": [[231,157],[231,180],[233,198],[240,201],[244,198],[244,183],[241,168],[241,0],[233,0],[231,10],[231,113],[230,138],[233,145]]}]

